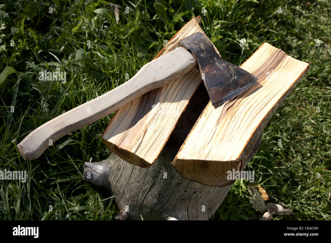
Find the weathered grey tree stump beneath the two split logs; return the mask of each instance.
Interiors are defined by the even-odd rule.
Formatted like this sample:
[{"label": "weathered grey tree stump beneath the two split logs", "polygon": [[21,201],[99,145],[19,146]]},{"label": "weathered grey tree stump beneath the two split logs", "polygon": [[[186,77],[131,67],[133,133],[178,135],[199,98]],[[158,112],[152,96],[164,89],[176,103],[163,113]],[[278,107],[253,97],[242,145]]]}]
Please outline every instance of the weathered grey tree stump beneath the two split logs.
[{"label": "weathered grey tree stump beneath the two split logs", "polygon": [[[258,150],[261,137],[248,161]],[[167,143],[149,168],[127,163],[114,153],[98,163],[86,162],[84,180],[105,187],[116,196],[118,220],[140,220],[141,217],[144,220],[208,220],[232,184],[207,186],[183,178],[171,164],[173,147],[176,146]]]}]

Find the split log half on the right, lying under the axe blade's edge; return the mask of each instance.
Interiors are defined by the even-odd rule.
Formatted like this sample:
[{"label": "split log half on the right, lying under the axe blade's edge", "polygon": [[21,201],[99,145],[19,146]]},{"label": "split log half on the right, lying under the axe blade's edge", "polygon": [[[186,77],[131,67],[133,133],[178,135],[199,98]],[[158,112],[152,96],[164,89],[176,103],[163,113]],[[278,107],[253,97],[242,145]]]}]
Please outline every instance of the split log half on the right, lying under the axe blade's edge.
[{"label": "split log half on the right, lying under the axe blade's edge", "polygon": [[[258,83],[221,105],[206,106],[181,146],[174,166],[185,178],[224,186],[227,171],[241,170],[251,146],[285,97],[306,73],[308,63],[287,56],[268,43],[241,66]],[[272,72],[268,75],[268,72]]]}]

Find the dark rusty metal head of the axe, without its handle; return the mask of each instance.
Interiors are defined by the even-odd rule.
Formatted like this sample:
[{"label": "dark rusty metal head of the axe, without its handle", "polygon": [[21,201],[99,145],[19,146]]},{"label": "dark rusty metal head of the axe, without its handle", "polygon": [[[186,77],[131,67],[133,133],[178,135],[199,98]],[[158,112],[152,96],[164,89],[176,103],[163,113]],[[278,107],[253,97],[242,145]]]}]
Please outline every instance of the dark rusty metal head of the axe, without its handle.
[{"label": "dark rusty metal head of the axe, without its handle", "polygon": [[197,32],[179,42],[199,64],[212,105],[218,105],[250,88],[258,78],[244,69],[223,60],[209,38]]}]

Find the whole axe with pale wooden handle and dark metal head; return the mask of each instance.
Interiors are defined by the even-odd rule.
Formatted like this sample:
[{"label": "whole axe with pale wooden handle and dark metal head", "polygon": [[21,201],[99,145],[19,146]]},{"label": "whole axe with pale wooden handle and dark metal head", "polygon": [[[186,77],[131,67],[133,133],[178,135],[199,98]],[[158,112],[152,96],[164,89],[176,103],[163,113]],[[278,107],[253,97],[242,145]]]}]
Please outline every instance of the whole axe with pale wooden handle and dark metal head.
[{"label": "whole axe with pale wooden handle and dark metal head", "polygon": [[199,66],[212,105],[218,105],[250,88],[257,78],[223,60],[209,38],[194,33],[179,42],[179,47],[145,64],[131,79],[91,101],[46,122],[27,135],[17,148],[25,160],[38,158],[49,142],[85,127],[139,96],[165,86]]}]

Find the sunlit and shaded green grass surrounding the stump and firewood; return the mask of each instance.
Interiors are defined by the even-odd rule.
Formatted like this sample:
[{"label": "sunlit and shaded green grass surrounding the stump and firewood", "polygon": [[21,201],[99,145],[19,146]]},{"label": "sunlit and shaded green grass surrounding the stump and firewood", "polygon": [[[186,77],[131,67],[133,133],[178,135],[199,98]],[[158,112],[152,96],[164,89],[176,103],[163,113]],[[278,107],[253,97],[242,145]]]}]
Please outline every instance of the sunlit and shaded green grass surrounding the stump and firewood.
[{"label": "sunlit and shaded green grass surrounding the stump and firewood", "polygon": [[[247,168],[255,171],[271,202],[294,212],[273,219],[330,220],[330,2],[114,3],[120,6],[118,24],[107,11],[94,12],[109,8],[106,1],[5,0],[0,5],[0,72],[9,66],[10,73],[4,79],[3,72],[0,78],[0,169],[28,173],[26,183],[0,181],[0,220],[115,218],[114,197],[82,181],[84,162],[90,158],[97,162],[111,153],[100,137],[111,115],[63,137],[33,161],[24,161],[16,144],[46,121],[122,84],[126,73],[132,77],[164,41],[198,15],[221,56],[236,65],[263,42],[310,64],[269,121]],[[39,81],[43,69],[66,71],[67,82]],[[237,181],[212,219],[259,219],[260,213],[249,203],[247,185]]]}]

